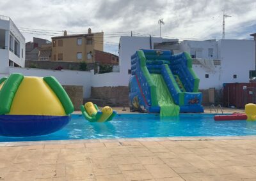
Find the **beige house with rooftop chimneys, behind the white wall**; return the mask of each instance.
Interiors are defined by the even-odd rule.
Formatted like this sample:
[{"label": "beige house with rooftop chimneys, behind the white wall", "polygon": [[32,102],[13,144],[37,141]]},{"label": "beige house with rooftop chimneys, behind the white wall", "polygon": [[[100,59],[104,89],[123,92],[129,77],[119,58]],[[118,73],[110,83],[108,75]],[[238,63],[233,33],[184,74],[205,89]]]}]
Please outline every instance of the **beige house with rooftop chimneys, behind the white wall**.
[{"label": "beige house with rooftop chimneys, behind the white wall", "polygon": [[95,62],[93,50],[103,51],[103,32],[52,37],[52,61]]}]

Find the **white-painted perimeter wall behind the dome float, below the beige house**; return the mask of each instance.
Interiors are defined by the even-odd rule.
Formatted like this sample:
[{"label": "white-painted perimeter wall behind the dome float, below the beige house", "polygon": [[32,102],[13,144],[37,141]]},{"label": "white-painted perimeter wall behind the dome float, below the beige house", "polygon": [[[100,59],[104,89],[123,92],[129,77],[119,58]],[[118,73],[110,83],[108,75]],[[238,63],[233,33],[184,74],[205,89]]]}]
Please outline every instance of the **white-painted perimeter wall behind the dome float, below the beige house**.
[{"label": "white-painted perimeter wall behind the dome float, below the beige house", "polygon": [[84,98],[90,98],[91,95],[91,75],[93,72],[90,71],[54,71],[48,69],[10,68],[10,74],[11,73],[22,73],[26,76],[54,76],[61,85],[82,85],[84,88]]}]

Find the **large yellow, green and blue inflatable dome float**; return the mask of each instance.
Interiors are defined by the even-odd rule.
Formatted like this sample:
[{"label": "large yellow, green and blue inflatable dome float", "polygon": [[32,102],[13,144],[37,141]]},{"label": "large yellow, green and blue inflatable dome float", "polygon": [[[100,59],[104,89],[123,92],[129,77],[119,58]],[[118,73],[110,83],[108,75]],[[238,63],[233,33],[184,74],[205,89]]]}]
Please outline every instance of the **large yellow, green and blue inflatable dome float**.
[{"label": "large yellow, green and blue inflatable dome float", "polygon": [[68,124],[74,106],[53,76],[0,79],[0,136],[38,136]]}]

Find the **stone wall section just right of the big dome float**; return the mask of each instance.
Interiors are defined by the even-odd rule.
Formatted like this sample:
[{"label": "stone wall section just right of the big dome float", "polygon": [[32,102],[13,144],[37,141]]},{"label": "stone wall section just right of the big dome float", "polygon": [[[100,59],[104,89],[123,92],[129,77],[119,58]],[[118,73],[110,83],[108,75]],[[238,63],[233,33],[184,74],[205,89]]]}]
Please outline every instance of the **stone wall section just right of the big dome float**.
[{"label": "stone wall section just right of the big dome float", "polygon": [[80,105],[83,104],[83,86],[78,85],[62,85],[71,99],[75,110],[80,110]]}]

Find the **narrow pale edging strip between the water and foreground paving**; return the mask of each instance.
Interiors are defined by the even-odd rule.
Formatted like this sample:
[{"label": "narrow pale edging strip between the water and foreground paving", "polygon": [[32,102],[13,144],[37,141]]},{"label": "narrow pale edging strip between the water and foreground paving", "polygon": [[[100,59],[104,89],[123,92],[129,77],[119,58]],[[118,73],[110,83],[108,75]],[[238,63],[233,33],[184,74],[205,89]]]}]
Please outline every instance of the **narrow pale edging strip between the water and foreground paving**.
[{"label": "narrow pale edging strip between the water and foreground paving", "polygon": [[159,138],[116,138],[116,139],[93,139],[93,140],[56,140],[56,141],[13,141],[1,142],[0,147],[19,147],[30,145],[60,145],[75,143],[105,143],[116,141],[212,141],[212,140],[256,140],[256,136],[177,136]]}]

